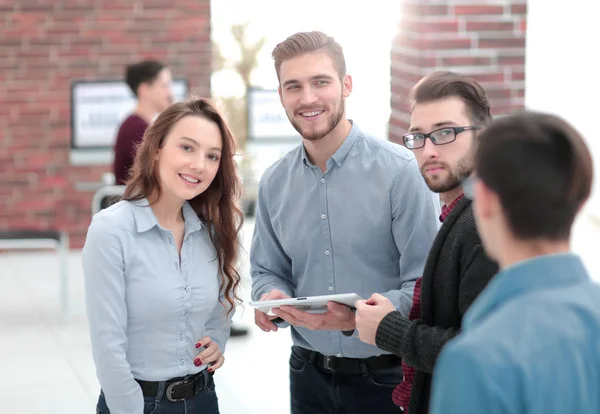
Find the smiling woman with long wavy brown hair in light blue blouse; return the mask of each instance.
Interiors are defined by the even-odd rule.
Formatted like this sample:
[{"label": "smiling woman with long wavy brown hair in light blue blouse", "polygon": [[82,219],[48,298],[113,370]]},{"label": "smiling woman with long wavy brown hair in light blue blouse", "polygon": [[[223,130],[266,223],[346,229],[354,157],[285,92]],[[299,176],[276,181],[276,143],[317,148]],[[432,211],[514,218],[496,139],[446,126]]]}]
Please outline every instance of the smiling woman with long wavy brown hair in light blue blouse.
[{"label": "smiling woman with long wavy brown hair in light blue blouse", "polygon": [[123,200],[96,214],[82,261],[100,414],[218,413],[240,281],[235,141],[205,99],[148,128]]}]

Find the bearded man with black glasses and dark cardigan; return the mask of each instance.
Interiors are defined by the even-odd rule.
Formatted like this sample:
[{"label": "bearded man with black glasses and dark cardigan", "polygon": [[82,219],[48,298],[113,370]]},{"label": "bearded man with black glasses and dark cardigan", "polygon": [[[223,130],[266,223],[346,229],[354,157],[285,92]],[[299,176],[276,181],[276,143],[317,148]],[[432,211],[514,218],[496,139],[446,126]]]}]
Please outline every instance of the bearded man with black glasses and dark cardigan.
[{"label": "bearded man with black glasses and dark cardigan", "polygon": [[466,76],[436,72],[417,83],[412,95],[411,127],[403,140],[444,203],[443,224],[415,285],[409,318],[374,294],[357,302],[356,328],[364,342],[402,358],[404,379],[392,399],[416,414],[428,412],[442,347],[460,332],[463,315],[498,266],[485,254],[471,201],[461,187],[473,172],[477,132],[492,120],[483,88]]}]

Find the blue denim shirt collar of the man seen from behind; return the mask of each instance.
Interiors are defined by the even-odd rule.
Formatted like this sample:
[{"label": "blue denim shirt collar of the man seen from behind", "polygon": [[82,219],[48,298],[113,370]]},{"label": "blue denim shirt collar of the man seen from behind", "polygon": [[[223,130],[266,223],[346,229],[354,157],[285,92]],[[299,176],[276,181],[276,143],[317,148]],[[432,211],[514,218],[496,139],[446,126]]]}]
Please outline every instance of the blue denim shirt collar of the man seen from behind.
[{"label": "blue denim shirt collar of the man seen from behind", "polygon": [[573,253],[525,260],[500,271],[465,315],[465,328],[484,319],[503,303],[529,292],[565,287],[588,280],[581,258]]}]

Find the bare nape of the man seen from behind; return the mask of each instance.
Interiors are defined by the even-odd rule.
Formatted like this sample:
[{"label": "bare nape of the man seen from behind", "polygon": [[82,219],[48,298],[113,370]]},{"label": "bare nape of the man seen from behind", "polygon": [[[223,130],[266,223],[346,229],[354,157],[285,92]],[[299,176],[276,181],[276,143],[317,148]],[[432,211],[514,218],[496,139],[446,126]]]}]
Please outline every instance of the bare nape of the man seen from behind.
[{"label": "bare nape of the man seen from behind", "polygon": [[568,253],[570,251],[571,244],[568,240],[525,241],[513,239],[506,243],[505,249],[498,257],[498,264],[500,265],[501,269],[506,269],[507,267],[510,267],[519,262],[535,259],[539,256]]}]

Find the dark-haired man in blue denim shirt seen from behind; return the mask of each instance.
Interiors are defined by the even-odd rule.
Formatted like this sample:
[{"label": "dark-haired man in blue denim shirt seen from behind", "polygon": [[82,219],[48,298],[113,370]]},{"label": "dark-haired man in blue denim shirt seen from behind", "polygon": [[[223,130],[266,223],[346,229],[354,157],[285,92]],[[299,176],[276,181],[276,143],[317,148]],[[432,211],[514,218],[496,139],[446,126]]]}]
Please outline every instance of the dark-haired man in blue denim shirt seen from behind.
[{"label": "dark-haired man in blue denim shirt seen from behind", "polygon": [[442,350],[431,412],[600,413],[600,286],[571,251],[592,157],[562,118],[522,112],[481,133],[466,180],[500,264]]}]

